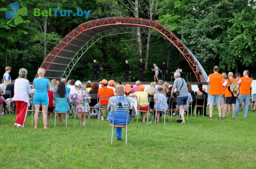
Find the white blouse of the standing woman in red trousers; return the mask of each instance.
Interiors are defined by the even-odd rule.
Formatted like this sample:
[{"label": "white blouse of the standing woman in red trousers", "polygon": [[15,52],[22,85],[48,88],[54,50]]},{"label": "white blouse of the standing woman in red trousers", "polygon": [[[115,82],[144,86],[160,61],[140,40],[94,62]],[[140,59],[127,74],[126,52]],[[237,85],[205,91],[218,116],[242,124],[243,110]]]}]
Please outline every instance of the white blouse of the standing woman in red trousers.
[{"label": "white blouse of the standing woman in red trousers", "polygon": [[29,106],[29,97],[28,94],[31,93],[31,88],[29,81],[24,78],[18,78],[14,83],[14,96],[13,100],[23,101],[28,103]]}]

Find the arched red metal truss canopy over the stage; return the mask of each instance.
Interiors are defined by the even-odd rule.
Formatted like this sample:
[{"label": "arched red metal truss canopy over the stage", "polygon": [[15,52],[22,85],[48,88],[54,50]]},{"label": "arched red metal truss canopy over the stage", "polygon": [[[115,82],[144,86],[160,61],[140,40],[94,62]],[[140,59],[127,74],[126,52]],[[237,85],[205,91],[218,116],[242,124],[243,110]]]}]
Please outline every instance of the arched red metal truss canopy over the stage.
[{"label": "arched red metal truss canopy over the stage", "polygon": [[[170,30],[156,21],[123,17],[93,20],[76,27],[54,47],[42,63],[41,67],[45,69],[45,77],[49,79],[67,78],[77,61],[99,39],[110,35],[127,33],[129,28],[138,26],[155,29],[169,40],[188,62],[197,81],[206,81],[208,76],[202,65]],[[110,30],[111,33],[108,32]]]}]

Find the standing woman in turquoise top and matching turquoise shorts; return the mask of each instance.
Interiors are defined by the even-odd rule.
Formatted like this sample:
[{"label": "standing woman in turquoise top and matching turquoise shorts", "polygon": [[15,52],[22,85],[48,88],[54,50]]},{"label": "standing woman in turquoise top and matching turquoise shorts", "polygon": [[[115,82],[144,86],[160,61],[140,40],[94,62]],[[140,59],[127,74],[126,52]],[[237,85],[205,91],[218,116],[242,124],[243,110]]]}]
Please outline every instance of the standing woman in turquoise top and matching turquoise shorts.
[{"label": "standing woman in turquoise top and matching turquoise shorts", "polygon": [[36,93],[33,100],[33,103],[35,105],[35,129],[37,128],[40,104],[42,104],[44,129],[47,129],[47,108],[49,102],[47,90],[50,89],[50,82],[48,79],[44,78],[44,73],[44,68],[39,68],[37,71],[39,77],[34,79],[34,87],[36,88]]}]

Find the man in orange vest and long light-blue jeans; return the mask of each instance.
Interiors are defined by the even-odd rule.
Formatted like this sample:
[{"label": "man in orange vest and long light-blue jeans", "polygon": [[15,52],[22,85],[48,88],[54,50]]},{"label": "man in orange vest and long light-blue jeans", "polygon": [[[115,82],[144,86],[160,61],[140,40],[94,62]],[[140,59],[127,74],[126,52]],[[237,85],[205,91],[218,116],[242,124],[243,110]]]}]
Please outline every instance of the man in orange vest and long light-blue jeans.
[{"label": "man in orange vest and long light-blue jeans", "polygon": [[[248,109],[250,104],[250,86],[252,83],[252,79],[249,77],[249,71],[245,70],[243,73],[243,77],[238,81],[238,85],[240,84],[240,94],[238,96],[240,102],[244,101],[244,117],[248,115]],[[235,116],[238,115],[240,110],[240,104],[236,104],[236,113]]]}]

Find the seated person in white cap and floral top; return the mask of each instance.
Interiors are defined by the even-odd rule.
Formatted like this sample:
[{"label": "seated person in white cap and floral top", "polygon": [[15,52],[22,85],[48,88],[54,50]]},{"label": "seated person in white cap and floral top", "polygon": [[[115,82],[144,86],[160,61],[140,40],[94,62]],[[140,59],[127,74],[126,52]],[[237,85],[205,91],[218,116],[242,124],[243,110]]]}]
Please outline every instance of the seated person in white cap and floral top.
[{"label": "seated person in white cap and floral top", "polygon": [[[90,106],[89,103],[91,102],[91,97],[89,93],[86,90],[82,90],[82,83],[81,81],[76,81],[75,93],[70,95],[70,98],[73,100],[73,102],[76,103],[76,112],[77,113],[89,113],[90,116],[92,116],[90,112]],[[81,125],[84,126],[84,115],[81,115]]]}]

